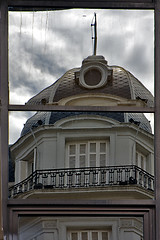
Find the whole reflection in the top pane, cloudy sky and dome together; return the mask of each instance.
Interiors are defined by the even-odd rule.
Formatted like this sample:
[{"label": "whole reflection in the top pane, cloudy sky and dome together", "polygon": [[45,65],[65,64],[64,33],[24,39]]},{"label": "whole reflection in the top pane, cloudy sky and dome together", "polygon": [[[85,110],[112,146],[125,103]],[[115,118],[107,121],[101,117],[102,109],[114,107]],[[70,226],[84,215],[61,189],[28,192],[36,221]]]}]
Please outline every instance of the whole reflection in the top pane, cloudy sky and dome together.
[{"label": "whole reflection in the top pane, cloudy sky and dome together", "polygon": [[[98,19],[95,59],[87,58],[93,53],[90,31],[94,12]],[[42,96],[43,91],[29,103],[153,106],[150,93],[142,91],[136,79],[153,93],[153,16],[153,11],[135,10],[10,12],[10,102],[24,104],[51,85],[50,98]],[[98,57],[101,55],[106,61]],[[66,101],[56,95],[57,87]],[[73,99],[75,92],[81,99]]]}]

